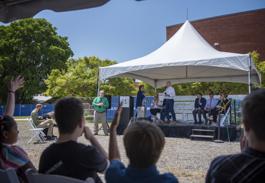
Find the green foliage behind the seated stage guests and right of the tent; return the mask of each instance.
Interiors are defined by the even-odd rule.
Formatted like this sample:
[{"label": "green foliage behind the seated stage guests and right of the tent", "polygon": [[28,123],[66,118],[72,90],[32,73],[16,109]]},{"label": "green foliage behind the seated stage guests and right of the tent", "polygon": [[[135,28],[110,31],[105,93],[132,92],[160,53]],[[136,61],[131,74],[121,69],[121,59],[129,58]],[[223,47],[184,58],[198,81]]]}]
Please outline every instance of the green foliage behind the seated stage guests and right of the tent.
[{"label": "green foliage behind the seated stage guests and right of the tent", "polygon": [[[261,88],[265,88],[265,62],[259,62],[259,53],[256,51],[249,52],[252,55],[252,59],[255,63],[256,68],[261,73],[262,85]],[[153,86],[141,81],[139,85],[144,85],[145,89],[150,90],[150,95],[153,96],[155,89]],[[230,94],[248,94],[249,86],[244,83],[231,83],[231,82],[194,82],[194,83],[181,83],[173,84],[172,87],[175,89],[176,95],[196,95],[202,93],[208,95],[213,92],[215,95],[220,95],[224,92]],[[166,86],[158,88],[158,93],[165,92]]]}]

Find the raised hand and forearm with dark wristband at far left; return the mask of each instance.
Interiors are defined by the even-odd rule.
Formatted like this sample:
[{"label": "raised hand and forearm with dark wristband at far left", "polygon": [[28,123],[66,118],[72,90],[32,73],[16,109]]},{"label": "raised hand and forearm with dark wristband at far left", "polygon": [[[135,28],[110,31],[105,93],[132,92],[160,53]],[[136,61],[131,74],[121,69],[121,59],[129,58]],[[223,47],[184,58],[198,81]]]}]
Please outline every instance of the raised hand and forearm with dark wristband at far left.
[{"label": "raised hand and forearm with dark wristband at far left", "polygon": [[[23,84],[25,81],[23,80],[24,77],[20,78],[20,75],[17,76],[17,78],[13,81],[13,77],[10,78],[9,84],[8,84],[8,97],[6,102],[6,109],[4,112],[4,115],[8,115],[10,117],[13,117],[14,111],[15,111],[15,91],[19,88],[24,87]],[[13,81],[13,82],[12,82]]]}]

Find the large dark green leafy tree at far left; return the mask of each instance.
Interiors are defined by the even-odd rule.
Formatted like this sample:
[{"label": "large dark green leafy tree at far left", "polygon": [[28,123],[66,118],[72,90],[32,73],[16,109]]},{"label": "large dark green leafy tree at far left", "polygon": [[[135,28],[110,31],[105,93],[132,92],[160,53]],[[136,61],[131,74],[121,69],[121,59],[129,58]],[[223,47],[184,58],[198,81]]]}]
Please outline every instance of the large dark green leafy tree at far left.
[{"label": "large dark green leafy tree at far left", "polygon": [[31,103],[34,95],[47,88],[44,81],[52,69],[66,69],[65,62],[74,54],[57,28],[41,18],[21,19],[0,25],[0,101],[5,104],[8,82],[19,74],[24,87],[15,93],[15,103]]}]

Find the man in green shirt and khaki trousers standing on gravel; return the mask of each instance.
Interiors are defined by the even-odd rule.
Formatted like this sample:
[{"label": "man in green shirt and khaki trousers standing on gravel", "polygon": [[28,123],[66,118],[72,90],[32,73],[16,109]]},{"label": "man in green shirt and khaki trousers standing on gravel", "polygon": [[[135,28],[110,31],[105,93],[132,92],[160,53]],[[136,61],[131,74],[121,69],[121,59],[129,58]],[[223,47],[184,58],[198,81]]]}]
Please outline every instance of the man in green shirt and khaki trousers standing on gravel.
[{"label": "man in green shirt and khaki trousers standing on gravel", "polygon": [[94,111],[94,134],[98,133],[98,122],[101,120],[103,126],[103,132],[105,135],[108,134],[107,128],[107,116],[106,116],[106,108],[109,107],[108,100],[104,97],[104,91],[100,91],[99,97],[96,97],[92,103],[92,106],[95,108]]}]

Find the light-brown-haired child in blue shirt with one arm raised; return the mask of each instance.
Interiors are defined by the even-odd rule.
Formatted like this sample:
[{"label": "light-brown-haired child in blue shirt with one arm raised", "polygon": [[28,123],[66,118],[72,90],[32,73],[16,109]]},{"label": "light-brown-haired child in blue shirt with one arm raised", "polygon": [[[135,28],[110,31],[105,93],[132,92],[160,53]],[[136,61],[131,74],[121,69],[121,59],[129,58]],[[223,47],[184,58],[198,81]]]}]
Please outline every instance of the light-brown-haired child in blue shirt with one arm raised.
[{"label": "light-brown-haired child in blue shirt with one arm raised", "polygon": [[110,128],[110,167],[106,171],[107,183],[170,183],[178,179],[170,174],[159,174],[156,162],[165,145],[164,134],[160,128],[148,121],[132,123],[124,132],[124,145],[130,164],[125,168],[120,161],[117,145],[117,126],[120,121],[122,102],[113,118]]}]

